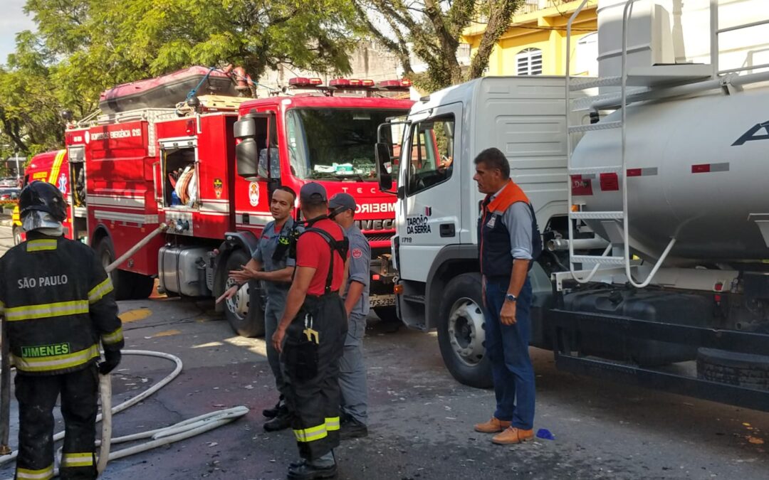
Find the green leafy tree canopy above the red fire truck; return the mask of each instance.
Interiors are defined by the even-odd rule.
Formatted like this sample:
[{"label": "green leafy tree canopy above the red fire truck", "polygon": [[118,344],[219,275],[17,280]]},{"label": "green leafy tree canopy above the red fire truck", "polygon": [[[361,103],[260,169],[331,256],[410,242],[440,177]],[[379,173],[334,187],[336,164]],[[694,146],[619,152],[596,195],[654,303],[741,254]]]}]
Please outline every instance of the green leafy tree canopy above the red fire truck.
[{"label": "green leafy tree canopy above the red fire truck", "polygon": [[37,33],[18,34],[0,71],[0,126],[26,154],[61,146],[58,111],[83,117],[116,84],[191,65],[344,74],[355,46],[347,0],[28,0],[25,12]]}]

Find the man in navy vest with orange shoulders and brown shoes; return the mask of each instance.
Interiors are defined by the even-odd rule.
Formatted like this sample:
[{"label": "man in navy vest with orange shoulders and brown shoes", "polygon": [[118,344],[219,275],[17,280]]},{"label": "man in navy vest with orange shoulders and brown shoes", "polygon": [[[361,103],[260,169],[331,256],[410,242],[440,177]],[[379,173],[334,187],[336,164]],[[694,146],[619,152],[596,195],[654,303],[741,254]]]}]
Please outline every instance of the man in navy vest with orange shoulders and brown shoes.
[{"label": "man in navy vest with orange shoulders and brown shoes", "polygon": [[510,179],[510,164],[497,148],[475,157],[478,190],[486,194],[478,217],[486,321],[486,354],[491,360],[497,409],[475,425],[506,445],[534,437],[534,368],[531,337],[531,283],[528,270],[542,250],[534,209]]}]

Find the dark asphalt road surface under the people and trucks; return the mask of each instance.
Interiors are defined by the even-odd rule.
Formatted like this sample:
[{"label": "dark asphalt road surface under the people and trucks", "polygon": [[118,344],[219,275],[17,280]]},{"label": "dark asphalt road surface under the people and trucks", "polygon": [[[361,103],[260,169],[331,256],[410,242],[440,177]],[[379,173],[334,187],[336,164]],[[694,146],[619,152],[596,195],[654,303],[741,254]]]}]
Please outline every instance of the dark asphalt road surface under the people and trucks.
[{"label": "dark asphalt road surface under the people and trucks", "polygon": [[[127,348],[172,353],[184,369],[155,395],[115,415],[113,437],[230,406],[250,412],[193,439],[110,462],[102,478],[285,478],[297,456],[293,434],[261,429],[261,410],[276,400],[264,341],[235,336],[210,301],[142,300],[120,307]],[[555,439],[493,445],[472,431],[491,415],[493,392],[455,382],[434,333],[372,316],[365,339],[370,435],[338,449],[339,478],[769,477],[769,414],[558,372],[551,353],[531,353],[538,382],[534,428],[550,430]],[[113,375],[114,403],[172,368],[163,359],[125,356]],[[15,418],[13,410],[12,425]],[[11,465],[0,467],[0,478],[12,476]]]}]

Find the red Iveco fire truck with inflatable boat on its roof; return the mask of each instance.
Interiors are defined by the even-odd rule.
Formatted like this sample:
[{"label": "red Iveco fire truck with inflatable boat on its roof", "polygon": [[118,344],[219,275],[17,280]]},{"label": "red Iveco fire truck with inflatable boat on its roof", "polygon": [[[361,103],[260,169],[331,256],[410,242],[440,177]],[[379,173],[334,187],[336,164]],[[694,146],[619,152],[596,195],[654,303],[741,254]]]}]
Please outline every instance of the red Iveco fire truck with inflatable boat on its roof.
[{"label": "red Iveco fire truck with inflatable boat on its roof", "polygon": [[[71,199],[73,234],[105,265],[161,223],[171,224],[112,273],[118,298],[148,296],[155,277],[158,290],[171,296],[221,294],[228,271],[248,262],[271,220],[269,197],[278,185],[298,191],[317,181],[329,195],[352,194],[372,257],[389,251],[394,203],[378,191],[371,145],[379,124],[408,113],[413,102],[391,98],[408,91],[408,81],[338,79],[324,86],[316,78],[293,79],[290,91],[259,99],[228,96],[220,85],[209,90],[225,95],[188,94],[184,101],[179,72],[168,77],[175,81],[167,95],[157,80],[105,92],[102,115],[66,131],[72,178],[85,179],[85,196]],[[195,91],[205,81],[211,87],[204,78]],[[372,306],[385,316],[392,288],[380,278],[378,260],[372,263]],[[219,306],[244,336],[264,333],[263,298],[254,287]]]}]

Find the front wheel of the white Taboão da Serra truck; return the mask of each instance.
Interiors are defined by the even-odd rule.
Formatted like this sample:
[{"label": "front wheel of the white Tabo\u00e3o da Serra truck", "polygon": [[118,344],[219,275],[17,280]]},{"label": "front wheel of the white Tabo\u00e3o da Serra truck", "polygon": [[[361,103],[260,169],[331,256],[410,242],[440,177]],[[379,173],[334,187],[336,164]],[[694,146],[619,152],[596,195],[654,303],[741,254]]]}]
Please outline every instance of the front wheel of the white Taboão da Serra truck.
[{"label": "front wheel of the white Tabo\u00e3o da Serra truck", "polygon": [[486,389],[492,380],[491,362],[485,355],[486,316],[481,295],[478,273],[463,273],[448,283],[438,317],[438,345],[454,379]]}]

